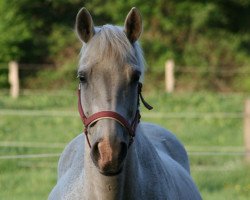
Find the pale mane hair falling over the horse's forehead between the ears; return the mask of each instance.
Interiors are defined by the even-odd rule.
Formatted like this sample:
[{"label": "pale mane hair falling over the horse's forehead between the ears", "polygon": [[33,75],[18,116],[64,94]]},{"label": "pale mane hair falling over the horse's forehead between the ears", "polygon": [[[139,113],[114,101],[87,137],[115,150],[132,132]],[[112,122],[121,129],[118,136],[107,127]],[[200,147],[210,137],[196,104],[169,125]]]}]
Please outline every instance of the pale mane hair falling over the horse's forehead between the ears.
[{"label": "pale mane hair falling over the horse's forehead between the ears", "polygon": [[83,45],[80,56],[80,68],[107,59],[115,59],[132,64],[142,74],[144,73],[145,61],[139,43],[136,41],[131,44],[123,28],[119,26],[108,24],[95,27],[95,35]]}]

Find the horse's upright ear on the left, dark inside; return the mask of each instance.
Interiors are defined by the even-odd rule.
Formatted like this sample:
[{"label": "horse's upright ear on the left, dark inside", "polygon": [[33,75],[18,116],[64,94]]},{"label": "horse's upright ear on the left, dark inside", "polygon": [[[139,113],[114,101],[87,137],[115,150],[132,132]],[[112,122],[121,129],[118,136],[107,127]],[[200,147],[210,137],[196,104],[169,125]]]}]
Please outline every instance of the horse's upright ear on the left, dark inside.
[{"label": "horse's upright ear on the left, dark inside", "polygon": [[81,41],[87,43],[95,34],[94,23],[89,11],[82,8],[76,16],[76,32]]}]

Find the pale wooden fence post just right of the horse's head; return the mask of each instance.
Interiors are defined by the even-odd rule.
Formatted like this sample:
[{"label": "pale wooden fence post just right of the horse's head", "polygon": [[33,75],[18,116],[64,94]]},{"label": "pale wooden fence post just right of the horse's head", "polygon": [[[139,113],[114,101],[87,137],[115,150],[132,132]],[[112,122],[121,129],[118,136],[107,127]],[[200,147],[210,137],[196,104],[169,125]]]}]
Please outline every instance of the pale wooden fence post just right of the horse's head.
[{"label": "pale wooden fence post just right of the horse's head", "polygon": [[174,91],[174,61],[167,60],[165,64],[165,88],[167,93],[172,93]]}]

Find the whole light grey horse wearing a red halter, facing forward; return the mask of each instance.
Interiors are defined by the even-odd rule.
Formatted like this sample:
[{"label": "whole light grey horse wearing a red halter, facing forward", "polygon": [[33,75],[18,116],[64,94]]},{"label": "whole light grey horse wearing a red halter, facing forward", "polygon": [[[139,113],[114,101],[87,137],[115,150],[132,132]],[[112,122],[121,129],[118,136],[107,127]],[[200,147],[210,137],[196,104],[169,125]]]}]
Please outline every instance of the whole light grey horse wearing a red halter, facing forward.
[{"label": "whole light grey horse wearing a red halter, facing forward", "polygon": [[145,61],[142,17],[124,27],[94,26],[86,8],[76,17],[82,42],[78,109],[85,126],[64,149],[50,200],[199,200],[187,152],[174,134],[140,122]]}]

